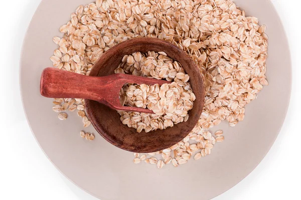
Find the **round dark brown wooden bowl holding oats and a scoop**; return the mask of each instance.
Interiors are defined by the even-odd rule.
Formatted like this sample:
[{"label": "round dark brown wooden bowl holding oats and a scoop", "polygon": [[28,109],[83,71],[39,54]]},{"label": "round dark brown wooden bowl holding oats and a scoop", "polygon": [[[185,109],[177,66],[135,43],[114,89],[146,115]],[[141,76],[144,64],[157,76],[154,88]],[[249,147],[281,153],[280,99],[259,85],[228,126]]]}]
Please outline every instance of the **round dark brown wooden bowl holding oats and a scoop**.
[{"label": "round dark brown wooden bowl holding oats and a scoop", "polygon": [[120,121],[120,115],[97,101],[86,99],[88,117],[93,126],[107,141],[124,150],[133,152],[155,152],[168,148],[186,137],[197,124],[204,105],[204,83],[196,63],[184,50],[176,45],[157,38],[141,37],[126,40],[106,51],[93,66],[91,76],[105,76],[114,73],[124,55],[134,52],[164,51],[180,62],[190,75],[190,83],[196,95],[193,108],[188,112],[186,122],[175,124],[164,130],[136,132]]}]

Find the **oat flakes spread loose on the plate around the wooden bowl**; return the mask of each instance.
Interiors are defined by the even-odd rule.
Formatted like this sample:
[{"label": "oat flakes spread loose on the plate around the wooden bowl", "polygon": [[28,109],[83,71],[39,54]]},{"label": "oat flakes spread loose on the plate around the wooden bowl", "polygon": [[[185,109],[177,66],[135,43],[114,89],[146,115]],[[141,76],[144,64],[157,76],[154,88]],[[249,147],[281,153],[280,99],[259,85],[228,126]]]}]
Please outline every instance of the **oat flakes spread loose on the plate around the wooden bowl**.
[{"label": "oat flakes spread loose on the plate around the wooden bowl", "polygon": [[[191,157],[210,154],[224,137],[222,131],[215,137],[206,129],[222,120],[235,126],[244,119],[244,106],[268,84],[265,29],[230,0],[96,0],[80,5],[60,27],[64,36],[53,38],[59,48],[51,60],[60,69],[88,75],[104,51],[133,37],[157,37],[186,50],[205,81],[205,105],[198,124],[178,144],[160,152],[135,153],[133,160],[158,168],[168,163],[178,166]],[[78,109],[84,126],[90,125],[82,99],[59,98],[54,103],[60,119],[67,118],[63,110]]]}]

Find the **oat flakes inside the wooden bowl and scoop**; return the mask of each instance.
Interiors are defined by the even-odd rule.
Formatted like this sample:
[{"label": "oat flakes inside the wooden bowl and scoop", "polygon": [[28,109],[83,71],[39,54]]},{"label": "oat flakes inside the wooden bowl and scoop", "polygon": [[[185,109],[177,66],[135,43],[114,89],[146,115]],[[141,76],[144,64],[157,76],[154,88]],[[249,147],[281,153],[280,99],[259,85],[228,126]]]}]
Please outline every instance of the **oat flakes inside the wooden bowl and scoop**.
[{"label": "oat flakes inside the wooden bowl and scoop", "polygon": [[125,55],[115,73],[167,79],[171,84],[126,84],[120,91],[124,105],[148,108],[155,114],[118,111],[120,120],[137,132],[149,132],[173,127],[187,121],[188,111],[193,107],[195,94],[181,63],[174,61],[165,52],[148,51]]}]

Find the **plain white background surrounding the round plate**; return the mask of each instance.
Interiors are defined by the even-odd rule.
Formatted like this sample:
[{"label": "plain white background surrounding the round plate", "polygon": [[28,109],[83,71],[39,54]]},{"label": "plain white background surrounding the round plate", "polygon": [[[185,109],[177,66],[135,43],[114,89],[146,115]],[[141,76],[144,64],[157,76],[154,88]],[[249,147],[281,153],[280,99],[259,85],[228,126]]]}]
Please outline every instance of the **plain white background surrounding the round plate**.
[{"label": "plain white background surrounding the round plate", "polygon": [[[23,112],[19,59],[27,26],[39,2],[2,0],[1,3],[0,199],[96,200],[52,165],[31,133]],[[263,161],[244,180],[215,200],[301,199],[301,69],[298,65],[301,3],[299,0],[272,2],[282,19],[291,49],[293,88],[287,117]]]}]

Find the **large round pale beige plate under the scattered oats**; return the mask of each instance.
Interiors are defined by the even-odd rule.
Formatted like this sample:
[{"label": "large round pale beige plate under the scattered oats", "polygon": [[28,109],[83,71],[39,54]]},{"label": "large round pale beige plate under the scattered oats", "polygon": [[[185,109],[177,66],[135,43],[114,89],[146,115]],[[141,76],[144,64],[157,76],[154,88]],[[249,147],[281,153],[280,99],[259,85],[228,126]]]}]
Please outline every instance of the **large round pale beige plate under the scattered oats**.
[{"label": "large round pale beige plate under the scattered oats", "polygon": [[[133,164],[133,155],[100,135],[91,142],[82,139],[81,119],[75,113],[66,121],[57,119],[52,99],[39,92],[42,69],[52,66],[56,49],[52,37],[70,20],[80,4],[91,0],[42,0],[29,26],[21,59],[21,89],[32,131],[53,164],[85,191],[109,199],[210,199],[231,188],[262,160],[282,126],[291,90],[289,48],[280,19],[269,0],[236,0],[247,15],[267,25],[269,36],[267,79],[269,85],[246,106],[244,121],[234,128],[226,123],[225,141],[210,156],[190,160],[180,167]],[[95,130],[90,127],[91,132]]]}]

